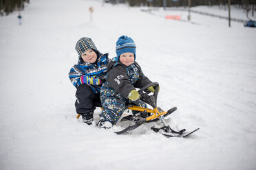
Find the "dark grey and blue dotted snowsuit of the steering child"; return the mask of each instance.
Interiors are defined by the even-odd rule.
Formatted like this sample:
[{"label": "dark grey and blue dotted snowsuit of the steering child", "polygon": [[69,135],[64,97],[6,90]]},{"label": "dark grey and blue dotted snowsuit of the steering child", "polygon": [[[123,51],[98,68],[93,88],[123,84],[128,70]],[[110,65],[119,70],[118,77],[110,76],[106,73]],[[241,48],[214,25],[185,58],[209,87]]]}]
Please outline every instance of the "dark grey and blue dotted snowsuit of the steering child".
[{"label": "dark grey and blue dotted snowsuit of the steering child", "polygon": [[[114,58],[108,66],[106,82],[100,88],[100,100],[103,112],[100,117],[115,124],[125,111],[129,102],[131,90],[142,88],[151,81],[142,73],[138,63],[125,66]],[[146,107],[145,102],[139,101],[138,106]]]}]

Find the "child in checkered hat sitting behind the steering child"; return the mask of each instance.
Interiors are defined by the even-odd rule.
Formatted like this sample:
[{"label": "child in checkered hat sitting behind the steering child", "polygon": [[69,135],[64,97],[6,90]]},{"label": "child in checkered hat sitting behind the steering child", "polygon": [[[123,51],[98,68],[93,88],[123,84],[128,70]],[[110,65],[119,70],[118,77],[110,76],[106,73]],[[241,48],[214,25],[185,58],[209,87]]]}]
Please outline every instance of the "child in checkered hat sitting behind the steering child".
[{"label": "child in checkered hat sitting behind the steering child", "polygon": [[70,69],[69,77],[76,87],[76,112],[83,122],[92,124],[93,114],[100,104],[100,87],[105,82],[108,53],[98,51],[91,38],[81,38],[76,43],[78,64]]}]

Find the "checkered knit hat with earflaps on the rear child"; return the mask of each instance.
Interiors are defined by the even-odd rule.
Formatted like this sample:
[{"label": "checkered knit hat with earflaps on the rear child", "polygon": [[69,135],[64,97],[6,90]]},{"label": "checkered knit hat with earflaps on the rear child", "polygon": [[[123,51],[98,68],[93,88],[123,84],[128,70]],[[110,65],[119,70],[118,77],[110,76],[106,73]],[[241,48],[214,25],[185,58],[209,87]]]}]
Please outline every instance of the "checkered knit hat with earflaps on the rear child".
[{"label": "checkered knit hat with earflaps on the rear child", "polygon": [[78,42],[76,42],[76,51],[79,55],[79,58],[81,58],[81,54],[88,49],[94,49],[95,51],[98,51],[91,38],[83,37],[78,40]]}]

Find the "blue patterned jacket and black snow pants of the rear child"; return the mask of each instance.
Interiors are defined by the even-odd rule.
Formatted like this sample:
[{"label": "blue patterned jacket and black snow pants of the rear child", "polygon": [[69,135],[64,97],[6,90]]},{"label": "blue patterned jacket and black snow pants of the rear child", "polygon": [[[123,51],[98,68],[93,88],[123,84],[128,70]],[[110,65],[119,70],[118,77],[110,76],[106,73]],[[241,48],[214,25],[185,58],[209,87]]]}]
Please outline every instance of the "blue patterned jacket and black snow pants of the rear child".
[{"label": "blue patterned jacket and black snow pants of the rear child", "polygon": [[108,53],[98,54],[96,63],[79,60],[78,64],[70,69],[70,81],[76,87],[76,112],[82,116],[92,114],[96,107],[101,106],[100,83],[105,81],[109,58]]}]

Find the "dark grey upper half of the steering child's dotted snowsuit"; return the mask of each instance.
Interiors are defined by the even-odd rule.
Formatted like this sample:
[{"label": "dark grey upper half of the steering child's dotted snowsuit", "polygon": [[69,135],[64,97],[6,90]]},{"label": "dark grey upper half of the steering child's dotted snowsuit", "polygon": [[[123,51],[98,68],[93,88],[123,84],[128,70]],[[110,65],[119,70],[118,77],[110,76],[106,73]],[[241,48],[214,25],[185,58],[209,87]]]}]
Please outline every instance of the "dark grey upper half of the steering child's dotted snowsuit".
[{"label": "dark grey upper half of the steering child's dotted snowsuit", "polygon": [[[131,90],[142,88],[151,81],[143,74],[139,64],[134,62],[130,66],[120,63],[117,58],[113,58],[107,69],[106,82],[103,84],[100,93],[107,93],[110,96],[121,95],[127,99]],[[104,95],[100,95],[104,96]]]}]

